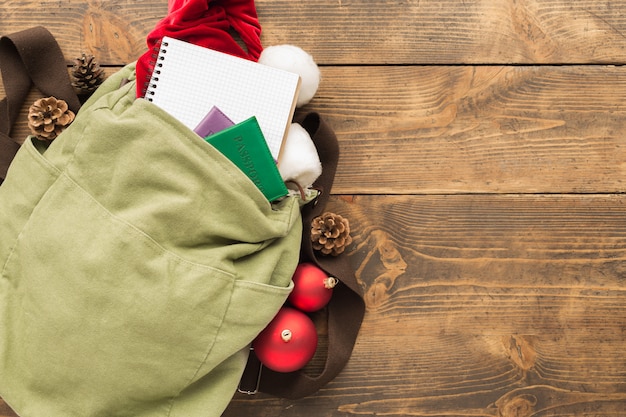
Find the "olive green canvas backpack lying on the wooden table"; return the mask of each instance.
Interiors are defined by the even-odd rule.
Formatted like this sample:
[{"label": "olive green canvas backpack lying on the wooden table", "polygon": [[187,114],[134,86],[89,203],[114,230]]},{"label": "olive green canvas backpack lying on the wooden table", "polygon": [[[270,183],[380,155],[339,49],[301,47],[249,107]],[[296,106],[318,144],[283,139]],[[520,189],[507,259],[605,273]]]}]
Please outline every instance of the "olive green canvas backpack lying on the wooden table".
[{"label": "olive green canvas backpack lying on the wooden table", "polygon": [[298,199],[136,100],[133,69],[0,187],[0,396],[23,416],[219,415],[291,290]]}]

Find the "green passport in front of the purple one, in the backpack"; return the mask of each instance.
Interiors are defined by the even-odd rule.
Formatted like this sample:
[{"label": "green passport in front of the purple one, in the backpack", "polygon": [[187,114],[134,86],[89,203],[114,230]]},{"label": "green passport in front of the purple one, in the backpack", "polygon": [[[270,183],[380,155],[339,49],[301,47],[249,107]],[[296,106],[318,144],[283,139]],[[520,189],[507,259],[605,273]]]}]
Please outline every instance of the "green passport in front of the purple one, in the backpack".
[{"label": "green passport in front of the purple one, in the backpack", "polygon": [[239,167],[269,201],[287,195],[287,187],[256,117],[252,116],[204,140]]}]

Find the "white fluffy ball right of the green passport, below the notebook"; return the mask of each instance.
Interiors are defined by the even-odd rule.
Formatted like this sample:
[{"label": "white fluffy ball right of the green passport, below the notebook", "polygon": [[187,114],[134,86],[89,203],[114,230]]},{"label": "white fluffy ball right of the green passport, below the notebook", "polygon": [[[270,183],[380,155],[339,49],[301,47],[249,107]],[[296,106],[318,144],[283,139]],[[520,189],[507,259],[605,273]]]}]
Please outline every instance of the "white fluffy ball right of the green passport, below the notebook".
[{"label": "white fluffy ball right of the green passport, below the notebook", "polygon": [[278,170],[283,181],[295,181],[302,188],[313,185],[322,174],[317,148],[309,132],[298,123],[292,123],[289,128]]}]

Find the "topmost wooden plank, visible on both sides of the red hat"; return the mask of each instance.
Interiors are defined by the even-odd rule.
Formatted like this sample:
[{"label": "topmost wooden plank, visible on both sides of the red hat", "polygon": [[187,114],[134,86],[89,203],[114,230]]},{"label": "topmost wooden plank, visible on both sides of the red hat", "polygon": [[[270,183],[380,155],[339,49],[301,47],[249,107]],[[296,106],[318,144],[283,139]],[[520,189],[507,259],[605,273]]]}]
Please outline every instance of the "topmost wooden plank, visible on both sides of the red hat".
[{"label": "topmost wooden plank, visible on both sides of the red hat", "polygon": [[[624,63],[626,3],[584,0],[257,0],[265,45],[338,64]],[[0,27],[48,27],[66,56],[135,60],[165,0],[6,0]]]}]

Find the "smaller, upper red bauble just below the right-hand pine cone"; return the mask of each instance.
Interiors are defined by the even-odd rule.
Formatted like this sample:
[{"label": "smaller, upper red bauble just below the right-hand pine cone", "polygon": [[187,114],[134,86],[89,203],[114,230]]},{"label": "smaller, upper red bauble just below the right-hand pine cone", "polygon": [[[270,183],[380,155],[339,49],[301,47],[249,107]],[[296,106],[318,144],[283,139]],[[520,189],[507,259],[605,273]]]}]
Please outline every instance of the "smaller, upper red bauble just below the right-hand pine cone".
[{"label": "smaller, upper red bauble just below the right-hand pine cone", "polygon": [[316,265],[303,262],[293,274],[293,291],[287,299],[294,307],[312,312],[323,308],[333,295],[337,279],[329,277]]}]

